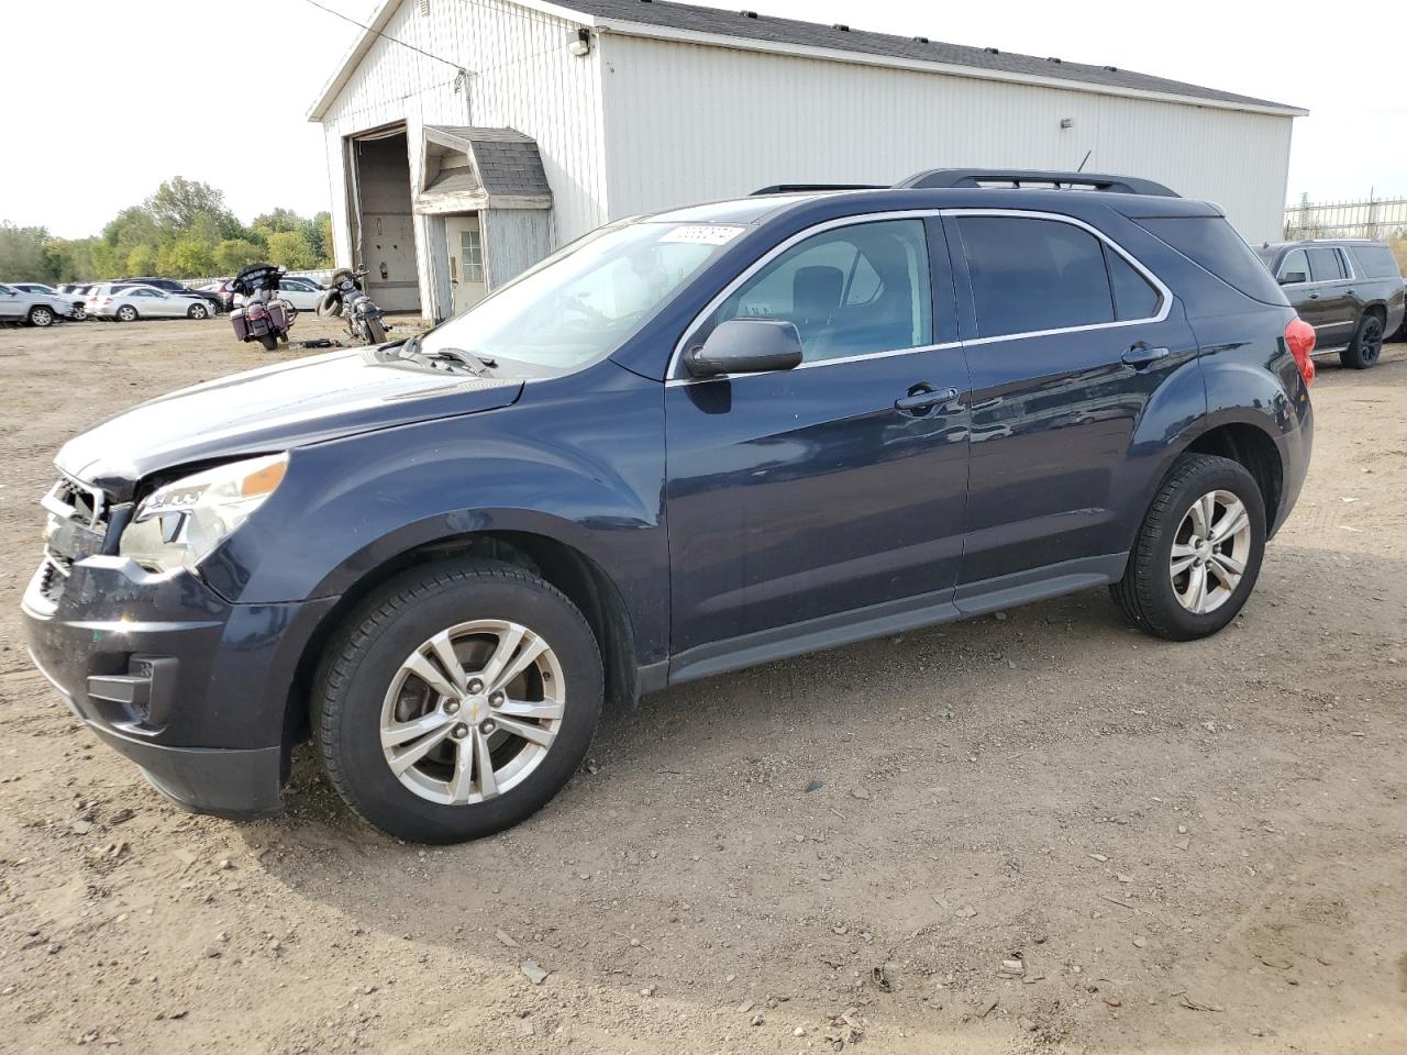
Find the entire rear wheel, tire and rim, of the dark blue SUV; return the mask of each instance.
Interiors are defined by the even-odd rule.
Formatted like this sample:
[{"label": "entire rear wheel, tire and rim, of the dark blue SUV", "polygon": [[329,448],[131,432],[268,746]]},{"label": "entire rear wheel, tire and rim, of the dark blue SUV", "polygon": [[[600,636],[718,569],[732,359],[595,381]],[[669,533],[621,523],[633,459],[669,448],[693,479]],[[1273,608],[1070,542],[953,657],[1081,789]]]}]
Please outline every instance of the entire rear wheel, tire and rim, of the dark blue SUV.
[{"label": "entire rear wheel, tire and rim, of the dark blue SUV", "polygon": [[1183,454],[1154,498],[1110,594],[1128,620],[1171,641],[1230,623],[1261,574],[1265,502],[1242,464]]}]

